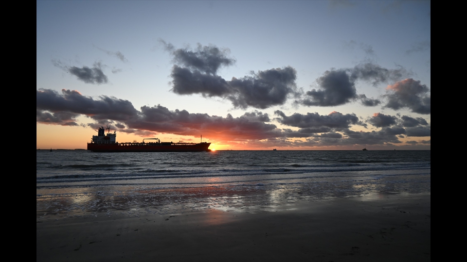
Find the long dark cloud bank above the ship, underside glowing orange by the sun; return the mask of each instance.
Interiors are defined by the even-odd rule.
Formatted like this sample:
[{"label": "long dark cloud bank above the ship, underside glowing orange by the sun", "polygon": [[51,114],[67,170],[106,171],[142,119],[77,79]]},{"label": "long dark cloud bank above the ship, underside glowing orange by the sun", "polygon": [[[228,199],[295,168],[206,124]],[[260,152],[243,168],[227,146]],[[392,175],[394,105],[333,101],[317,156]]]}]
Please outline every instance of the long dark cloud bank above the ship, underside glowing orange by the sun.
[{"label": "long dark cloud bank above the ship, underside glowing orange by the sun", "polygon": [[[97,121],[90,125],[94,129],[104,123],[112,123],[117,128],[126,127],[119,130],[124,132],[141,134],[142,131],[151,131],[193,136],[202,134],[220,141],[282,136],[281,130],[267,123],[270,121],[268,114],[258,111],[248,112],[240,117],[232,115],[221,117],[190,114],[186,110],[170,111],[166,107],[157,105],[143,106],[139,112],[127,100],[107,96],[94,100],[82,96],[78,91],[65,89],[62,90],[62,94],[50,89],[37,90],[36,109],[37,122],[64,124],[68,121],[68,125],[72,125],[72,122],[75,123],[74,117],[86,115]],[[65,116],[68,118],[65,119]]]}]

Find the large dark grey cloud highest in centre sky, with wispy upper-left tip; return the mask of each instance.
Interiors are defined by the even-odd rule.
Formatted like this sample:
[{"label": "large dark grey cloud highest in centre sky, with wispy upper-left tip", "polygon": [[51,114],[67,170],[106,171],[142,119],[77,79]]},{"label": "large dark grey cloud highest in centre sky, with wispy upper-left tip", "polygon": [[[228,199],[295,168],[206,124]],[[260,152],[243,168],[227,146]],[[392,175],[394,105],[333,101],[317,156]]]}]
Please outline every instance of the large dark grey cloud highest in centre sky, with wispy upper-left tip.
[{"label": "large dark grey cloud highest in centre sky, with wispy upper-left tip", "polygon": [[297,72],[290,66],[251,72],[251,76],[226,81],[217,75],[217,70],[235,63],[228,57],[228,49],[198,44],[198,48],[191,51],[175,49],[173,45],[161,42],[174,56],[176,65],[171,73],[171,91],[176,94],[220,97],[229,99],[235,108],[260,109],[282,105],[289,96],[297,94]]}]

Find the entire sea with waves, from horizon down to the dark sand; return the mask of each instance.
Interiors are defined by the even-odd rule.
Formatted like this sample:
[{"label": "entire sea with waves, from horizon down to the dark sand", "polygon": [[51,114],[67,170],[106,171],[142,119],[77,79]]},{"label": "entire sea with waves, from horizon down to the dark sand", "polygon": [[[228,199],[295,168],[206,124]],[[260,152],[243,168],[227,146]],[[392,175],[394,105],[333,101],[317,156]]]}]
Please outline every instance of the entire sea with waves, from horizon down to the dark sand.
[{"label": "entire sea with waves, from horizon down to the dark sand", "polygon": [[430,150],[119,152],[36,150],[37,220],[431,193]]}]

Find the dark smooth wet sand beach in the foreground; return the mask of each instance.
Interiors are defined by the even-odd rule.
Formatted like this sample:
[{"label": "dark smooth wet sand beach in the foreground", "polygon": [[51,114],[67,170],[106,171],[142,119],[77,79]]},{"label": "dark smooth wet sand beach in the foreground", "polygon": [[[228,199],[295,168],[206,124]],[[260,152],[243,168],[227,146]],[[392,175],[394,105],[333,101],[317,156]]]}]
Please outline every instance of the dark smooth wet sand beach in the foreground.
[{"label": "dark smooth wet sand beach in the foreground", "polygon": [[430,261],[430,194],[38,220],[37,261]]}]

